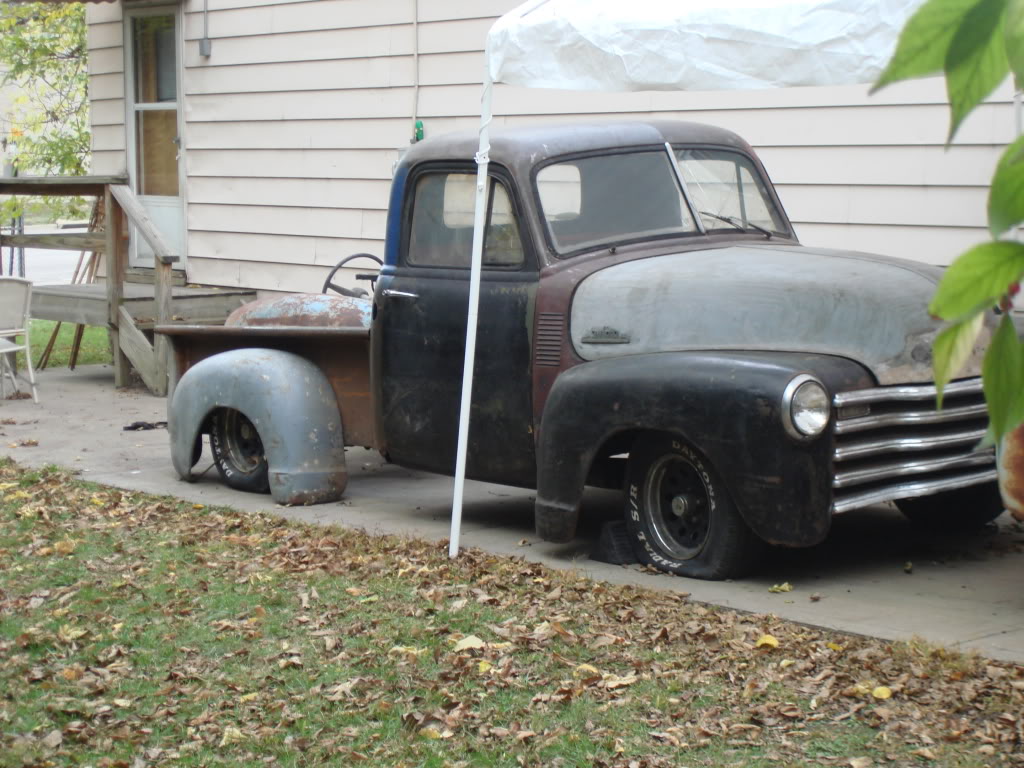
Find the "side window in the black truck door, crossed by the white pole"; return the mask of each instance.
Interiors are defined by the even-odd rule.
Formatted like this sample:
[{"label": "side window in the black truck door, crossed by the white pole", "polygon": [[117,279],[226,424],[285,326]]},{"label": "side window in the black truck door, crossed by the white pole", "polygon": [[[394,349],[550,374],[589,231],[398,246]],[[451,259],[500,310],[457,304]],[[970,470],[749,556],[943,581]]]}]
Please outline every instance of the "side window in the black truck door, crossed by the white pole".
[{"label": "side window in the black truck door, crossed by the white pole", "polygon": [[[476,175],[426,173],[416,182],[407,262],[413,266],[469,268],[473,249]],[[512,267],[523,262],[519,223],[508,189],[490,179],[483,240],[483,265]]]}]

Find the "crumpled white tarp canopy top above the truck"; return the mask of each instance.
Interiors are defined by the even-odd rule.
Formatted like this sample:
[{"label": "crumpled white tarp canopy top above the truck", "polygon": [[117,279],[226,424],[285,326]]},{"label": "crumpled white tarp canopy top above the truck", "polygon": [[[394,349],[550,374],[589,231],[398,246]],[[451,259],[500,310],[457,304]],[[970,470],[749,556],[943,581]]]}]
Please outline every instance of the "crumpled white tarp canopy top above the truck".
[{"label": "crumpled white tarp canopy top above the truck", "polygon": [[923,0],[547,0],[487,35],[495,83],[744,90],[872,82]]}]

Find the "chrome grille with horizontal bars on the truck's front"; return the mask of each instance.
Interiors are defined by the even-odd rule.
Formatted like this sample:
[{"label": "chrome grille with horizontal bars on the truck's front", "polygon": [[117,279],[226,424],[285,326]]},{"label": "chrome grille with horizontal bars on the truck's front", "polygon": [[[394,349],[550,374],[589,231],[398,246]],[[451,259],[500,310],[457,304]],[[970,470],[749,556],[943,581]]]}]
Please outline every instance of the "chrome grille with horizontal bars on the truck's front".
[{"label": "chrome grille with horizontal bars on the truck's front", "polygon": [[988,414],[980,379],[935,387],[840,392],[833,456],[834,512],[995,479],[995,455],[977,450]]}]

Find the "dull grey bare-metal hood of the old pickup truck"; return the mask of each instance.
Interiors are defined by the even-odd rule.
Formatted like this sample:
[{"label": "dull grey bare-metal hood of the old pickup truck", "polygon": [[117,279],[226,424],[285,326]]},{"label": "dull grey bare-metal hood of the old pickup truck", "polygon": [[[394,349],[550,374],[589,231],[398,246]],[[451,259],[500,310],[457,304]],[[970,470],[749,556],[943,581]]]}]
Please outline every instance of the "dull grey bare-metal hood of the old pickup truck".
[{"label": "dull grey bare-metal hood of the old pickup truck", "polygon": [[[684,350],[815,352],[857,360],[880,384],[929,382],[928,314],[942,270],[884,256],[743,245],[655,256],[584,280],[571,338],[588,360]],[[981,371],[981,347],[962,376]]]}]

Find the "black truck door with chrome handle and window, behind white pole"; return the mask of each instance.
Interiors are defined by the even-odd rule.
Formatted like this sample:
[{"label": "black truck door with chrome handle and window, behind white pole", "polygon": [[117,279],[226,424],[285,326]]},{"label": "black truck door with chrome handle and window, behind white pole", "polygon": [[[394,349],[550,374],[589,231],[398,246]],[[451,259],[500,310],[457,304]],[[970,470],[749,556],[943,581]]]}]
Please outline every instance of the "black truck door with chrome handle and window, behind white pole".
[{"label": "black truck door with chrome handle and window, behind white pole", "polygon": [[[398,263],[384,267],[375,296],[377,417],[385,451],[397,464],[444,474],[455,472],[475,188],[472,168],[414,170]],[[466,471],[530,486],[529,329],[538,270],[511,189],[498,169],[487,196]]]}]

